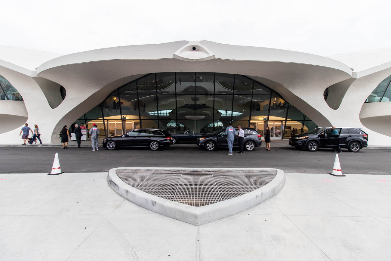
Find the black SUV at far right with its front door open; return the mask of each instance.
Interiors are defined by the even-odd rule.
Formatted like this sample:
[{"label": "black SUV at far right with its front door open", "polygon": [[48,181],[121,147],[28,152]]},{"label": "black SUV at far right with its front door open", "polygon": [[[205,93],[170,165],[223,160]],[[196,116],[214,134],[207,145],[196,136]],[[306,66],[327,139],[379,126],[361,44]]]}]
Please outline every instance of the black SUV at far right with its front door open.
[{"label": "black SUV at far right with its front door open", "polygon": [[359,128],[315,128],[303,134],[292,135],[289,145],[296,148],[307,148],[308,151],[316,151],[321,148],[348,149],[350,152],[359,152],[361,148],[368,146],[368,134]]}]

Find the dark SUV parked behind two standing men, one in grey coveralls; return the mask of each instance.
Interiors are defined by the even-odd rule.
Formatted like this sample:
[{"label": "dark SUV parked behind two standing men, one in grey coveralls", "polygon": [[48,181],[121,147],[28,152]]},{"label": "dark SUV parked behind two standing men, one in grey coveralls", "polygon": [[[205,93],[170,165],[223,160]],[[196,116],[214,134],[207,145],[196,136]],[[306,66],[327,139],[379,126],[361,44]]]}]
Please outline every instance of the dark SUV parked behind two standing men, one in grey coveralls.
[{"label": "dark SUV parked behind two standing men, one in grey coveralls", "polygon": [[[253,128],[242,128],[244,130],[244,149],[253,151],[255,147],[262,145],[261,135]],[[236,134],[233,140],[233,147],[239,148],[239,139],[236,137],[238,129],[235,128]],[[199,147],[205,148],[207,151],[213,151],[217,148],[228,148],[227,134],[225,129],[221,129],[213,134],[203,135],[197,138],[195,142]]]}]

